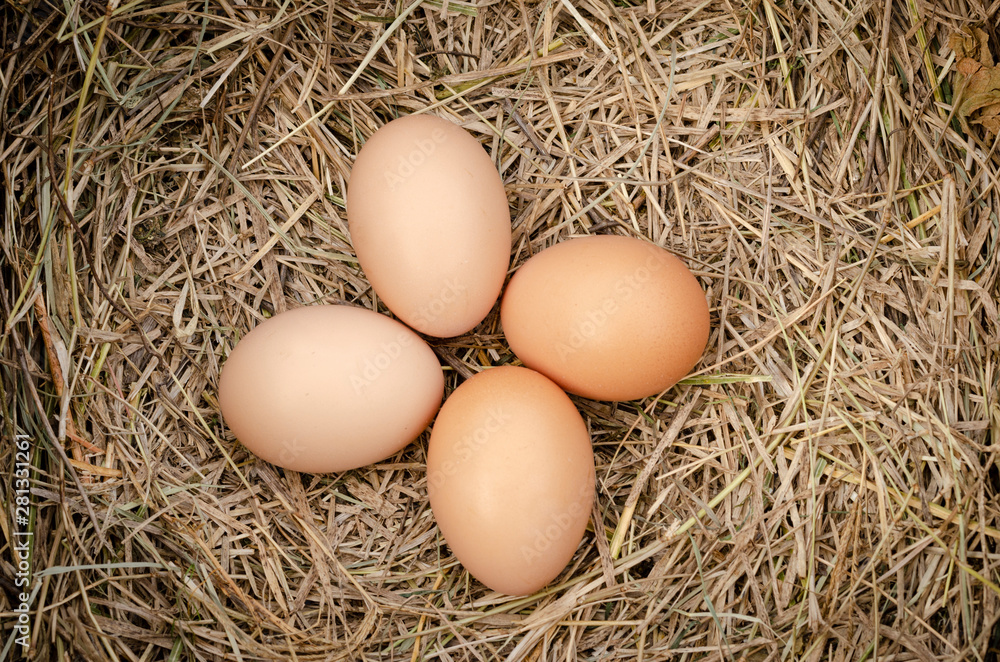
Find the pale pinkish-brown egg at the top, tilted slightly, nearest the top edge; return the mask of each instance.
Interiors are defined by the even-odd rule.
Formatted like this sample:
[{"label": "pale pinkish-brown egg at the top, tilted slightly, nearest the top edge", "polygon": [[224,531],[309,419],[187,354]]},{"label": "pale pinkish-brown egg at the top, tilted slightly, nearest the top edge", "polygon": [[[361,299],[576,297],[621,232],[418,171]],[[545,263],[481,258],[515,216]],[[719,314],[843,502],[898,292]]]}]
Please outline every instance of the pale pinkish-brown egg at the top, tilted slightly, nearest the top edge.
[{"label": "pale pinkish-brown egg at the top, tilted slightly, nearest the top edge", "polygon": [[347,220],[372,288],[417,331],[465,333],[499,298],[507,195],[482,145],[457,124],[407,115],[376,131],[351,171]]}]

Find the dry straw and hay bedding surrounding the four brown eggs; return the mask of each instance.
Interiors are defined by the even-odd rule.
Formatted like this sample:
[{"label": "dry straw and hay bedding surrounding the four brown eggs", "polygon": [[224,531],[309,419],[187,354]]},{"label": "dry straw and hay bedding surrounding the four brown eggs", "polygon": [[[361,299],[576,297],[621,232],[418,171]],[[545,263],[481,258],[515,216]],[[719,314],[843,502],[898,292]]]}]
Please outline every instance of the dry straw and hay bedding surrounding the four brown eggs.
[{"label": "dry straw and hay bedding surrounding the four brown eggs", "polygon": [[[998,4],[5,0],[0,657],[995,659]],[[512,268],[642,236],[710,300],[688,379],[576,400],[597,508],[526,598],[443,542],[426,436],[298,475],[219,415],[262,319],[387,312],[344,190],[412,112],[492,155]],[[515,361],[496,309],[432,344]]]}]

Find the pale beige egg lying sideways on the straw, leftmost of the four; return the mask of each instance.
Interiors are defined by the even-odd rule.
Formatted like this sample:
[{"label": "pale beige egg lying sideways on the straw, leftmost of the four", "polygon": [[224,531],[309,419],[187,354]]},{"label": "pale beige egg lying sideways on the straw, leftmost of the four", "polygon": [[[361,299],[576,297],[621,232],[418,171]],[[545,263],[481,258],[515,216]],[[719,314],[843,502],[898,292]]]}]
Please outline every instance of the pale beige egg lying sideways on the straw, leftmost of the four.
[{"label": "pale beige egg lying sideways on the straw, leftmost of the four", "polygon": [[219,405],[236,438],[295,471],[345,471],[413,441],[444,375],[413,331],[353,306],[307,306],[257,325],[230,353]]}]

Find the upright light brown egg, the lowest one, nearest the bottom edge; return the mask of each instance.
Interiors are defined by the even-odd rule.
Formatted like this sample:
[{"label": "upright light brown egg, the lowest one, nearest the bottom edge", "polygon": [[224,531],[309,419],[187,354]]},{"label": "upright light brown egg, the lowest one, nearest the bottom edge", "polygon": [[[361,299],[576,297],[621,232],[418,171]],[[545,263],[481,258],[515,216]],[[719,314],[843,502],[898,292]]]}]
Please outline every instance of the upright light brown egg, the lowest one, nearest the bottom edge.
[{"label": "upright light brown egg, the lowest one, nearest the bottom edge", "polygon": [[495,591],[529,595],[562,572],[586,530],[594,484],[583,419],[533,370],[477,374],[434,422],[431,509],[462,565]]}]

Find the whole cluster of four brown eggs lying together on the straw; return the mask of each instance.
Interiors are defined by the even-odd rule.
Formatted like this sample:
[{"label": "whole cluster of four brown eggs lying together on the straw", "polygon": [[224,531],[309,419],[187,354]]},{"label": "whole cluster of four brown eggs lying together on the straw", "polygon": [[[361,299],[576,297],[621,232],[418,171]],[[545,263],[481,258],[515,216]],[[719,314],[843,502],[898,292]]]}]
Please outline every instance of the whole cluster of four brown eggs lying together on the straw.
[{"label": "whole cluster of four brown eggs lying together on the straw", "polygon": [[307,306],[259,324],[220,377],[227,424],[258,457],[325,473],[384,460],[434,420],[427,491],[448,545],[490,588],[537,591],[593,508],[590,435],[566,392],[634,400],[673,386],[708,342],[701,285],[640,239],[552,246],[521,265],[500,306],[526,367],[485,369],[442,406],[441,365],[414,330],[466,333],[500,297],[511,226],[496,167],[447,120],[394,120],[358,154],[347,217],[372,288],[403,323]]}]

